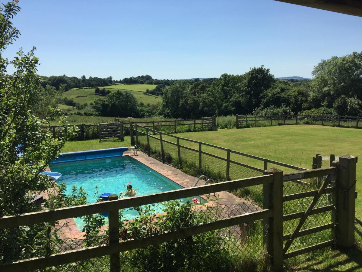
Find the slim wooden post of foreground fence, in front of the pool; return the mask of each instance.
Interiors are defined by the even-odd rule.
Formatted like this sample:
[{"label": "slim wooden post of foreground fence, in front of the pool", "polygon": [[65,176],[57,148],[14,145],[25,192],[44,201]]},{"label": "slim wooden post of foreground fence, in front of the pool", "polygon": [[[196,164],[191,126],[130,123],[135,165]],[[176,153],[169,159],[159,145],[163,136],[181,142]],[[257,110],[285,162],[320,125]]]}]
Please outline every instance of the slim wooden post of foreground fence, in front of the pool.
[{"label": "slim wooden post of foreground fence, in front of the pool", "polygon": [[[117,200],[116,194],[108,196],[108,200]],[[112,210],[108,212],[108,230],[109,230],[109,246],[117,246],[119,243],[119,215],[118,210]],[[119,252],[109,255],[109,267],[111,272],[120,271]]]}]

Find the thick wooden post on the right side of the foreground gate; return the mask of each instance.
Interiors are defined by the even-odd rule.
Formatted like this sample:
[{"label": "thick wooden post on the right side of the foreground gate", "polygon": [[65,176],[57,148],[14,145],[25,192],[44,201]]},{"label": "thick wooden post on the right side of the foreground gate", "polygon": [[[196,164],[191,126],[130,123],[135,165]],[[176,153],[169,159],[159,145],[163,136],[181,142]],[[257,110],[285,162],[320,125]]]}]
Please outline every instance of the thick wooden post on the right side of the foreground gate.
[{"label": "thick wooden post on the right side of the foreground gate", "polygon": [[351,247],[354,244],[355,190],[357,157],[345,155],[337,164],[337,244]]}]

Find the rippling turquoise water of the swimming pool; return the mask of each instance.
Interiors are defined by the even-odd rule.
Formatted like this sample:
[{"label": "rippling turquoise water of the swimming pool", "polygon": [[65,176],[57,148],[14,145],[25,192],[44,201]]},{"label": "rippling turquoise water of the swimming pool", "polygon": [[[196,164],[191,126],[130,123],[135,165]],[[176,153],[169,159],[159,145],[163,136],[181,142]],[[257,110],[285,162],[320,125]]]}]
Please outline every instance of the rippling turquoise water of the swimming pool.
[{"label": "rippling turquoise water of the swimming pool", "polygon": [[[99,194],[119,195],[120,192],[126,191],[127,184],[131,184],[133,189],[138,189],[136,196],[182,188],[129,156],[62,162],[51,164],[50,168],[52,172],[59,172],[63,175],[57,182],[67,184],[67,194],[71,193],[73,185],[78,188],[82,187],[88,194],[89,203],[96,202],[99,197],[95,186],[98,186]],[[162,205],[156,205],[156,213],[160,212],[162,208]],[[122,219],[132,219],[136,215],[136,211],[125,210]],[[108,218],[105,219],[105,223],[108,224]],[[75,218],[75,222],[81,230],[83,228],[82,219]]]}]

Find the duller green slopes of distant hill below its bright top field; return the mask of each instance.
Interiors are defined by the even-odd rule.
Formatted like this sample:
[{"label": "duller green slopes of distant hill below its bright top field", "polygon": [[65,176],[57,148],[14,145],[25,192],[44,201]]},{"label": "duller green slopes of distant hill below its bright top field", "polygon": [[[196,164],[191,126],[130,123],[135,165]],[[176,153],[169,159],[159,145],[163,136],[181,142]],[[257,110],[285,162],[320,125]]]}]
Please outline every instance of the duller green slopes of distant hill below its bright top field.
[{"label": "duller green slopes of distant hill below its bright top field", "polygon": [[[115,91],[115,90],[125,91],[125,89],[111,88],[111,87],[115,87],[115,86],[105,87],[105,89],[109,90],[111,92]],[[102,89],[104,87],[100,87],[100,88]],[[89,105],[90,103],[93,103],[94,100],[104,97],[104,96],[95,95],[94,94],[95,89],[96,89],[95,87],[91,88],[91,89],[71,89],[69,91],[64,92],[62,94],[62,97],[66,97],[68,99],[73,99],[73,101],[75,103],[79,103],[81,105],[83,105],[85,103],[87,103]],[[144,104],[147,104],[147,103],[149,103],[149,104],[157,104],[157,103],[162,101],[161,96],[147,94],[146,89],[145,89],[144,92],[143,91],[135,91],[135,90],[129,90],[129,92],[131,92],[136,97],[137,101],[140,102],[140,103],[142,102]]]}]

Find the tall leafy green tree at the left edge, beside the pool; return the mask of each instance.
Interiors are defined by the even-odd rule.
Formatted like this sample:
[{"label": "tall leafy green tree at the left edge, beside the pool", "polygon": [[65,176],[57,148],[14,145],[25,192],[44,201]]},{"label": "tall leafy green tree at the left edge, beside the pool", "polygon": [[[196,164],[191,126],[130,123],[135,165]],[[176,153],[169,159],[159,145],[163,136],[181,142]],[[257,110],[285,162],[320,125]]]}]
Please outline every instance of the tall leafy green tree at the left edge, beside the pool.
[{"label": "tall leafy green tree at the left edge, beside the pool", "polygon": [[[42,120],[31,112],[41,83],[36,74],[35,48],[26,54],[18,51],[12,61],[3,57],[4,50],[19,35],[11,22],[18,11],[17,1],[0,8],[0,217],[37,209],[31,203],[34,194],[54,186],[41,172],[58,156],[73,132],[59,108],[49,110]],[[7,73],[8,66],[14,67],[13,74]],[[57,139],[50,133],[50,121],[55,117],[60,118]],[[0,230],[0,262],[50,254],[52,227],[54,222]]]}]

